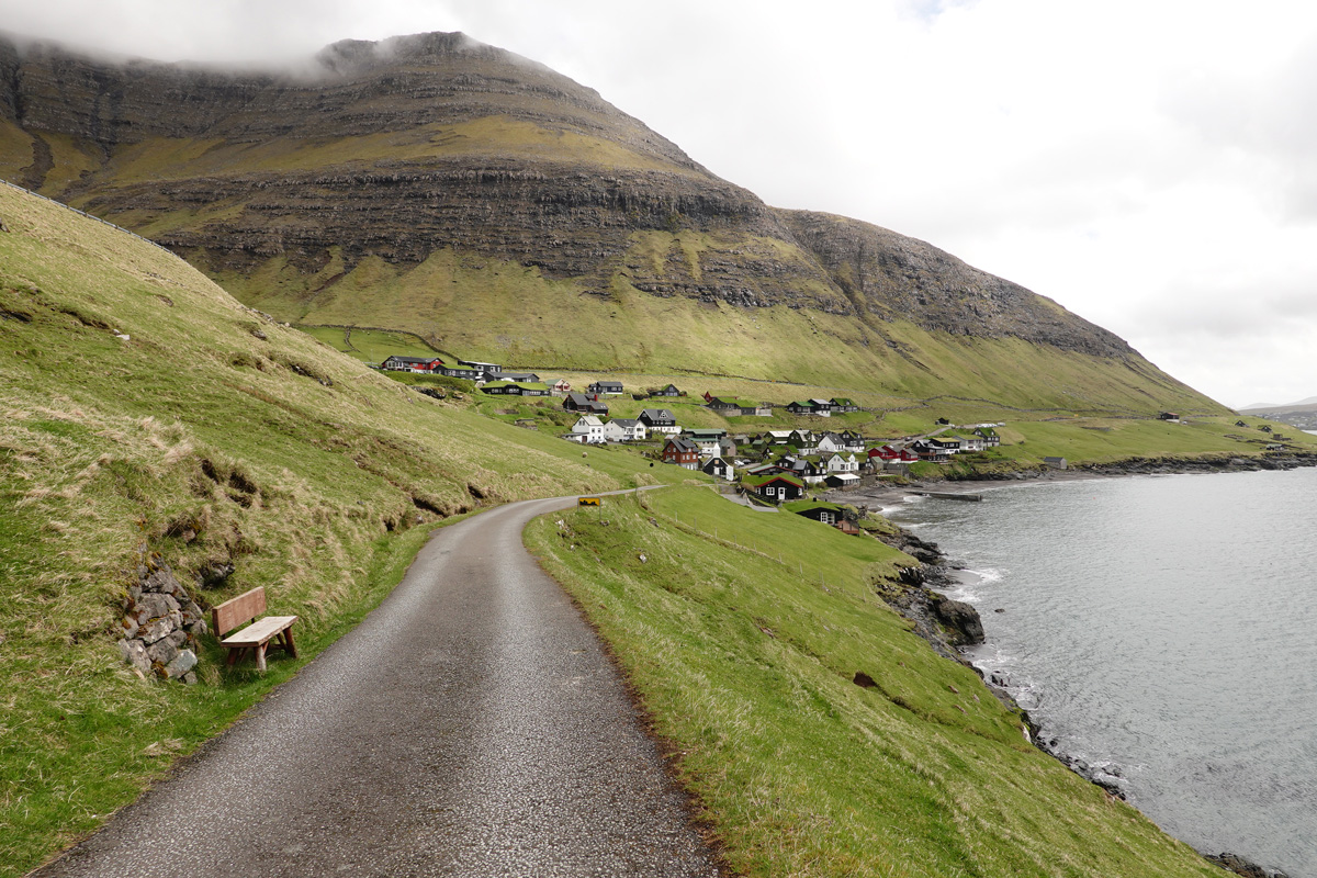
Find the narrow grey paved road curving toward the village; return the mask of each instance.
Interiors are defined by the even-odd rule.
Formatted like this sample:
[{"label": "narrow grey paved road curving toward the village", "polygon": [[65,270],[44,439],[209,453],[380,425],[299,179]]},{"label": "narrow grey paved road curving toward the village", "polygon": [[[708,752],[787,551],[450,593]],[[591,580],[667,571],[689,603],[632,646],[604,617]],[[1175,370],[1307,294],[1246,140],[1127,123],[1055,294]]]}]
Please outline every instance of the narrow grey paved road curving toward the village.
[{"label": "narrow grey paved road curving toward the village", "polygon": [[352,633],[37,874],[715,875],[594,632],[522,546],[566,505],[440,530]]}]

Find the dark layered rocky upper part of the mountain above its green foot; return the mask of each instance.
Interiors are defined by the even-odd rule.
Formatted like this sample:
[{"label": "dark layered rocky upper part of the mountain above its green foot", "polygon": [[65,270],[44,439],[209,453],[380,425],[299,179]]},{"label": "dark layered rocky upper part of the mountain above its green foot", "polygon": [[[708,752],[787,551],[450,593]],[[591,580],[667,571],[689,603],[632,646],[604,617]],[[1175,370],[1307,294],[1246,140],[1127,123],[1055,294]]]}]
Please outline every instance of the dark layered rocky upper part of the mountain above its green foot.
[{"label": "dark layered rocky upper part of the mountain above its green foot", "polygon": [[[341,42],[296,71],[105,63],[0,41],[0,172],[215,272],[333,283],[369,257],[515,261],[581,292],[909,321],[1108,358],[1115,336],[927,245],[784,212],[598,93],[462,34]],[[637,253],[639,237],[649,249]],[[655,236],[664,237],[653,251]],[[369,320],[363,320],[369,323]]]}]

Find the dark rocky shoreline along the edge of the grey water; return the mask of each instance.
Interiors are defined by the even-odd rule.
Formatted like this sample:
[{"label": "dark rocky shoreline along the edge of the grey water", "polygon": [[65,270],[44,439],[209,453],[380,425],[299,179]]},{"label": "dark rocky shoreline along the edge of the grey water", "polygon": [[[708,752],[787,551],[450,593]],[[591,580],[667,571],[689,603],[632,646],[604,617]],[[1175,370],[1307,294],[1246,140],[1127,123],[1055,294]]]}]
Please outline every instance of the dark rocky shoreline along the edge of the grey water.
[{"label": "dark rocky shoreline along the edge of the grey water", "polygon": [[[984,487],[1005,487],[1004,483],[1051,483],[1051,482],[1077,482],[1097,478],[1118,478],[1125,475],[1172,475],[1191,473],[1243,473],[1258,470],[1293,470],[1303,466],[1317,466],[1317,454],[1293,453],[1274,455],[1267,458],[1216,458],[1216,459],[1173,459],[1173,458],[1139,458],[1122,461],[1118,463],[1085,465],[1069,470],[1056,471],[1019,471],[1005,475],[977,477],[971,479],[946,479],[907,483],[892,486],[880,491],[863,491],[867,499],[897,500],[913,495],[915,491],[927,490],[935,484],[955,482],[957,487],[968,488],[980,483]],[[968,490],[967,490],[968,492]],[[859,492],[856,492],[859,494]],[[851,496],[855,496],[853,494]],[[836,500],[849,499],[844,494],[835,495]],[[1073,754],[1065,753],[1056,746],[1056,740],[1047,740],[1042,735],[1040,727],[1030,717],[1011,696],[1005,681],[996,675],[984,675],[964,654],[964,648],[984,642],[982,621],[979,612],[968,603],[954,600],[942,594],[963,583],[960,567],[952,565],[938,544],[922,540],[921,537],[898,528],[894,536],[881,537],[888,545],[901,549],[915,561],[915,567],[901,570],[900,579],[874,583],[877,594],[897,612],[913,623],[914,632],[927,641],[935,652],[946,658],[957,661],[971,667],[988,690],[1011,710],[1019,711],[1019,716],[1029,728],[1030,740],[1039,750],[1058,760],[1071,771],[1084,779],[1102,787],[1109,795],[1126,799],[1125,779],[1118,766],[1105,763],[1089,763]],[[1200,852],[1205,860],[1246,878],[1288,878],[1279,869],[1270,869],[1251,862],[1234,853],[1222,852],[1210,854]]]}]

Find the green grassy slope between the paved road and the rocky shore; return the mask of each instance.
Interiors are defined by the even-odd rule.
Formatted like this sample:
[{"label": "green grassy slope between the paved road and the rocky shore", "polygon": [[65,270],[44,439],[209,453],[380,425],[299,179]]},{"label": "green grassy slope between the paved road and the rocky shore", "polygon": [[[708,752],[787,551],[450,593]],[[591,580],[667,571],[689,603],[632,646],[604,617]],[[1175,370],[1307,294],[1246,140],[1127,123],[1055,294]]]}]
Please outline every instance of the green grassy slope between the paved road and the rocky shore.
[{"label": "green grassy slope between the paved road and the rocky shore", "polygon": [[527,544],[738,874],[1220,875],[910,633],[871,587],[909,559],[874,540],[677,488],[543,517]]}]

